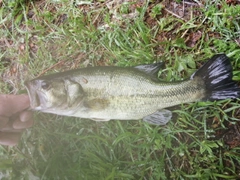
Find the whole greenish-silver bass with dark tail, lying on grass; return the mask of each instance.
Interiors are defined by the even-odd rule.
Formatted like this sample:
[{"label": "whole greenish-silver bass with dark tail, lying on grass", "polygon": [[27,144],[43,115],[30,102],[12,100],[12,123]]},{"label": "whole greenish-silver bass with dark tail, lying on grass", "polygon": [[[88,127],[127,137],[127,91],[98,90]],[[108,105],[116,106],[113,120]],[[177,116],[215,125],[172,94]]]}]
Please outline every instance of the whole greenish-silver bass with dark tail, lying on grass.
[{"label": "whole greenish-silver bass with dark tail, lying on grass", "polygon": [[240,97],[225,54],[212,56],[183,81],[159,80],[162,68],[162,62],[87,67],[37,77],[25,86],[32,110],[95,121],[143,119],[154,125],[171,120],[168,107]]}]

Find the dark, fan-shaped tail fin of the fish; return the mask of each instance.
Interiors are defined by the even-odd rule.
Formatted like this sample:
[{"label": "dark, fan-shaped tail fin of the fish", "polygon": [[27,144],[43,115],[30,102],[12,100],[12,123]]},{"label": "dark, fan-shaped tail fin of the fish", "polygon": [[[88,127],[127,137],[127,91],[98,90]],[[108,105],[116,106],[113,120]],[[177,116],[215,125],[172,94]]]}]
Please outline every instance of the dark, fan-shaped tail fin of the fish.
[{"label": "dark, fan-shaped tail fin of the fish", "polygon": [[194,77],[201,77],[205,83],[206,97],[203,100],[234,99],[240,97],[240,88],[232,80],[232,66],[225,54],[214,55]]}]

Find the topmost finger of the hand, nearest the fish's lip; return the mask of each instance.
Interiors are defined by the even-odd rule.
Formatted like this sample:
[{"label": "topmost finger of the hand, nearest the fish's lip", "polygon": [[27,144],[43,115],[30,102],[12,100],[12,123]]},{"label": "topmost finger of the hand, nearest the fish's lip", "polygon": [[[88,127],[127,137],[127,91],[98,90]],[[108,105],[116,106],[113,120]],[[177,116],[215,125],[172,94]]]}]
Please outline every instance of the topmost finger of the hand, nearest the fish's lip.
[{"label": "topmost finger of the hand, nearest the fish's lip", "polygon": [[27,94],[0,95],[0,115],[11,116],[30,106]]}]

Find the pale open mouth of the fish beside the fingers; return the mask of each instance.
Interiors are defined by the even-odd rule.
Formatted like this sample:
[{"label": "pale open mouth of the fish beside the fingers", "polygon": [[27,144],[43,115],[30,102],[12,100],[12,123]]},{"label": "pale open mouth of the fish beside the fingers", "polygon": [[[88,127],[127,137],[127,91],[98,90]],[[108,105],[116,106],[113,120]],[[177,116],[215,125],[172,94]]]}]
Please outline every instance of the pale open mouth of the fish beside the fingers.
[{"label": "pale open mouth of the fish beside the fingers", "polygon": [[40,98],[37,93],[35,85],[33,83],[31,83],[30,81],[26,81],[24,83],[24,85],[27,89],[28,96],[30,99],[30,108],[32,110],[37,110],[37,109],[41,108]]}]

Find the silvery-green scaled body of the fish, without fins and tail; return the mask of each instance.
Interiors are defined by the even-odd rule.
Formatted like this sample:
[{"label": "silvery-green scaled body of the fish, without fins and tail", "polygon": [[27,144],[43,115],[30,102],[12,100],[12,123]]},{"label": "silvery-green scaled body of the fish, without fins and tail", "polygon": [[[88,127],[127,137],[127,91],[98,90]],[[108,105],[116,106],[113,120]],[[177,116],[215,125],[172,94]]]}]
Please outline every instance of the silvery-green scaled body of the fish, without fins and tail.
[{"label": "silvery-green scaled body of the fish, without fins and tail", "polygon": [[[158,109],[204,96],[204,90],[198,91],[198,81],[155,82],[134,68],[96,67],[81,69],[79,75],[72,73],[34,80],[39,82],[38,95],[48,95],[40,98],[41,109],[37,110],[92,119],[141,119]],[[51,86],[45,87],[45,95],[40,94],[42,84]]]}]

